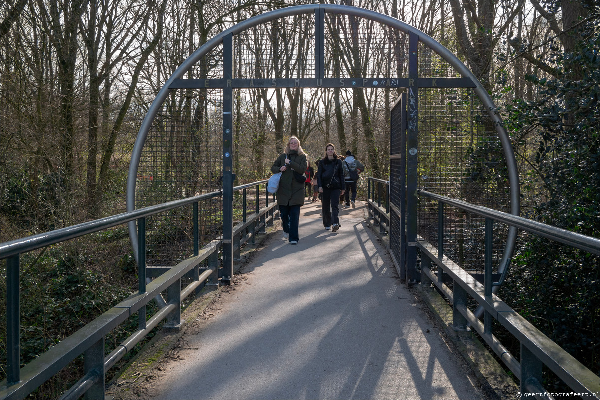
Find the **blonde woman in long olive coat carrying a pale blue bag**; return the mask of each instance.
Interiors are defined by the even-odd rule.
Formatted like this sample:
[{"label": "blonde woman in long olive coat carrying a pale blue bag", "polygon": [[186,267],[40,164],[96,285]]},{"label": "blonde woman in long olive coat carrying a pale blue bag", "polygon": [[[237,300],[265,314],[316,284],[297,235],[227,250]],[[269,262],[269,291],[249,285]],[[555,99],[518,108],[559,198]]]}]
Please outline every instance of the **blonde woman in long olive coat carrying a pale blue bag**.
[{"label": "blonde woman in long olive coat carrying a pale blue bag", "polygon": [[[298,220],[300,207],[304,206],[305,177],[303,173],[308,168],[308,158],[297,137],[287,140],[284,153],[277,157],[271,166],[271,172],[281,172],[277,188],[277,206],[281,216],[283,237],[290,245],[298,244]],[[296,174],[294,173],[296,172]],[[297,175],[296,178],[294,175]],[[300,178],[301,177],[301,178]]]}]

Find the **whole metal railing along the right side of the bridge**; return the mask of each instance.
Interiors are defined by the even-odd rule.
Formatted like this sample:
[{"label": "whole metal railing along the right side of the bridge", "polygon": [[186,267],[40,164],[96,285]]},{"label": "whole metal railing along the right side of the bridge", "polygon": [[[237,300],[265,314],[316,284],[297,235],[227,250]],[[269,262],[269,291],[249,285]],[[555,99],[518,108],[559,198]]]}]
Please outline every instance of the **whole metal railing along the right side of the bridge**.
[{"label": "whole metal railing along the right side of the bridge", "polygon": [[[373,185],[385,185],[386,181],[373,179]],[[379,191],[381,191],[379,189]],[[374,192],[373,192],[374,193]],[[371,191],[370,191],[370,194]],[[520,314],[515,312],[503,300],[492,293],[494,285],[502,282],[493,282],[492,272],[492,240],[493,221],[516,227],[556,242],[572,246],[577,249],[599,255],[600,240],[594,237],[584,236],[563,230],[561,228],[531,221],[526,218],[514,216],[508,213],[475,206],[464,201],[451,199],[450,197],[430,193],[425,190],[418,191],[419,196],[428,197],[438,201],[439,215],[443,216],[443,208],[446,206],[457,207],[468,213],[483,216],[485,218],[485,266],[484,282],[481,284],[472,275],[443,255],[443,240],[439,240],[437,248],[425,240],[418,240],[418,248],[421,250],[421,285],[435,285],[445,297],[452,303],[453,326],[456,330],[466,330],[471,326],[482,339],[497,354],[503,363],[520,381],[520,390],[523,393],[544,393],[546,390],[541,386],[542,365],[547,366],[575,393],[585,393],[583,396],[599,398],[600,379],[592,371],[578,362],[550,338],[544,335],[535,326],[530,324]],[[369,215],[374,224],[389,225],[389,215],[381,207],[380,201],[368,200]],[[386,221],[380,221],[386,219]],[[443,232],[443,217],[439,218],[438,231]],[[386,228],[389,234],[389,228]],[[437,267],[437,270],[434,270]],[[444,283],[444,276],[452,279],[452,288]],[[484,320],[479,320],[467,308],[467,296],[472,297],[484,308]],[[492,318],[498,321],[508,332],[520,342],[520,360],[517,360],[504,347],[492,333]]]}]

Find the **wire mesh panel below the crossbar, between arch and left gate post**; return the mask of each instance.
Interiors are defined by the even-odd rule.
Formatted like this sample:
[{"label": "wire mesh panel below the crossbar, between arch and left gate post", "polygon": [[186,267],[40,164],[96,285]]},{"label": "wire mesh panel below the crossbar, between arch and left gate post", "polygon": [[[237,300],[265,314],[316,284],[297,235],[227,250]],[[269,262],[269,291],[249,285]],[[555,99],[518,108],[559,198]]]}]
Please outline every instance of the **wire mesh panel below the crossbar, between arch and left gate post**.
[{"label": "wire mesh panel below the crossbar, between arch and left gate post", "polygon": [[[137,177],[137,209],[222,187],[222,91],[175,93],[148,132]],[[200,203],[200,246],[220,234],[222,210],[220,198]],[[170,266],[188,257],[192,228],[191,206],[148,218],[148,266]]]}]

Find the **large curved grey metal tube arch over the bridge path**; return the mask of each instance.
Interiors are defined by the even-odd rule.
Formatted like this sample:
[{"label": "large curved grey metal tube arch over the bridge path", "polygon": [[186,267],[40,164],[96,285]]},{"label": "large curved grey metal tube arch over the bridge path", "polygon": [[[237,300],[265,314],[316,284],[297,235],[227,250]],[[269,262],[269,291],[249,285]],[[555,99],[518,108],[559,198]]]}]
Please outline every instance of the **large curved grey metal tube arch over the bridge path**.
[{"label": "large curved grey metal tube arch over the bridge path", "polygon": [[[506,164],[508,167],[508,179],[509,179],[509,187],[511,193],[511,209],[510,213],[512,215],[519,215],[520,213],[520,188],[519,188],[519,179],[517,172],[517,162],[515,159],[514,152],[512,150],[511,141],[508,137],[508,133],[504,129],[502,125],[502,119],[496,113],[496,106],[491,100],[490,95],[481,85],[481,82],[473,75],[473,73],[467,68],[460,59],[457,58],[452,52],[450,52],[446,47],[442,46],[442,44],[438,43],[436,40],[431,38],[429,35],[424,32],[416,29],[413,26],[408,25],[405,22],[402,22],[398,19],[392,18],[390,16],[386,16],[385,14],[377,13],[376,11],[365,10],[364,8],[350,7],[347,5],[336,5],[336,4],[308,4],[308,5],[297,5],[293,7],[281,8],[280,10],[269,11],[268,13],[260,14],[259,16],[252,17],[243,22],[238,23],[235,26],[232,26],[229,29],[221,32],[216,35],[211,40],[207,41],[205,44],[199,47],[194,53],[192,53],[169,77],[167,82],[164,84],[163,88],[157,94],[157,97],[152,102],[150,108],[148,109],[148,113],[144,117],[142,121],[142,125],[140,126],[140,130],[136,137],[136,142],[133,146],[133,151],[131,152],[131,163],[128,170],[127,176],[127,190],[126,190],[126,202],[127,202],[127,211],[132,211],[135,209],[135,189],[136,189],[136,179],[137,179],[137,171],[139,168],[139,162],[142,155],[143,145],[146,141],[146,137],[148,136],[148,131],[150,130],[152,121],[154,121],[155,116],[160,110],[164,100],[166,100],[167,95],[170,90],[169,86],[175,79],[181,78],[188,70],[190,70],[193,65],[196,64],[206,53],[214,49],[218,46],[218,44],[223,42],[223,38],[226,35],[238,34],[239,32],[246,31],[247,29],[253,28],[254,26],[260,25],[262,23],[270,22],[271,20],[280,19],[283,17],[296,16],[300,14],[308,14],[314,13],[316,10],[325,10],[326,13],[330,14],[344,14],[355,17],[361,17],[365,19],[370,19],[376,22],[383,23],[384,25],[389,26],[390,28],[398,29],[407,34],[416,34],[419,37],[419,41],[430,47],[430,49],[434,50],[438,55],[440,55],[443,59],[445,59],[452,67],[454,67],[460,74],[464,77],[469,77],[475,83],[475,93],[478,95],[479,100],[482,101],[484,106],[487,109],[488,115],[491,120],[494,122],[496,126],[496,132],[500,139],[500,143],[502,143],[502,149],[504,152],[504,156],[506,158]],[[129,236],[131,239],[131,245],[133,246],[133,253],[138,260],[138,249],[137,249],[137,230],[136,223],[134,221],[129,222]],[[498,272],[504,273],[508,268],[509,260],[512,257],[512,253],[514,252],[515,243],[517,241],[517,229],[514,227],[509,228],[508,237],[506,238],[506,246],[502,255],[502,260],[500,260],[500,266]],[[496,287],[497,289],[497,287]]]}]

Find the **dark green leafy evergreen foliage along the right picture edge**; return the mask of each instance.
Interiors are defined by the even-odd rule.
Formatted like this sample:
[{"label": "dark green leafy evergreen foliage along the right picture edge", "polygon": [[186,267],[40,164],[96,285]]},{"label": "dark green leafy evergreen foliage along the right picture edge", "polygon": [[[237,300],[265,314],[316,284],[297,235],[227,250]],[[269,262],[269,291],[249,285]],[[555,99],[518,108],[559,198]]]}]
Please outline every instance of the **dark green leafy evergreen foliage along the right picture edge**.
[{"label": "dark green leafy evergreen foliage along the right picture edge", "polygon": [[[528,216],[598,237],[600,8],[593,1],[548,1],[542,5],[550,17],[572,3],[581,10],[562,10],[562,32],[569,35],[569,41],[557,35],[550,52],[538,59],[543,57],[553,73],[540,69],[540,74],[527,75],[538,98],[515,100],[506,106],[505,121],[514,137],[524,131],[538,135],[529,163],[542,191],[533,203],[526,204],[532,209]],[[576,19],[565,20],[565,14]],[[506,289],[509,293],[504,297],[514,300],[515,309],[527,312],[539,329],[598,374],[598,257],[532,236],[523,240],[515,261]]]}]

